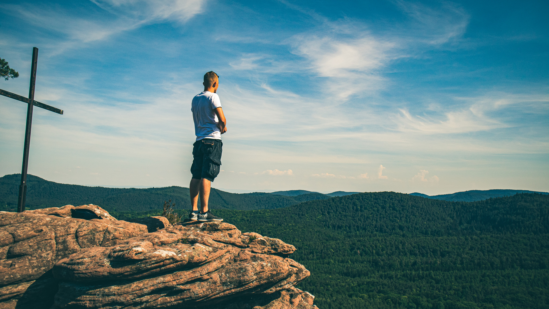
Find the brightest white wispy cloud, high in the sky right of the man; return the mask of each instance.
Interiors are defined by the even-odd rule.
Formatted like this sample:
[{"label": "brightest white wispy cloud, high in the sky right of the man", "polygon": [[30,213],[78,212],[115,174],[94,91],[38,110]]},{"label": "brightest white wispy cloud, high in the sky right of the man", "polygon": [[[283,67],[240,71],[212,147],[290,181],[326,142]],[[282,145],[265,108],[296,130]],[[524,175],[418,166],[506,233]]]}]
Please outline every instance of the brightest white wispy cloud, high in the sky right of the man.
[{"label": "brightest white wispy cloud, high in the sky right of the man", "polygon": [[[377,91],[388,84],[382,70],[392,60],[421,54],[425,45],[441,45],[461,37],[467,29],[469,15],[453,3],[438,8],[396,1],[412,18],[406,25],[393,25],[383,35],[374,35],[360,21],[329,21],[310,10],[286,3],[321,23],[317,29],[288,40],[293,53],[305,58],[305,67],[318,77],[328,78],[324,92],[339,100],[365,91]],[[406,49],[406,50],[405,50]],[[333,99],[332,99],[333,100]]]}]

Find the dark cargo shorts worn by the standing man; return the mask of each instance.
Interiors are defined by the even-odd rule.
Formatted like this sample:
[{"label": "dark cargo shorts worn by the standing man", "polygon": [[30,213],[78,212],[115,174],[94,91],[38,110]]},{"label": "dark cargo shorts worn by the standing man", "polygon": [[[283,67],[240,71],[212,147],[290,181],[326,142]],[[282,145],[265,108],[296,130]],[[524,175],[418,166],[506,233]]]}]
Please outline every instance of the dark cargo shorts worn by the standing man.
[{"label": "dark cargo shorts worn by the standing man", "polygon": [[219,174],[221,165],[221,140],[201,139],[193,144],[193,179],[208,179],[214,181]]}]

